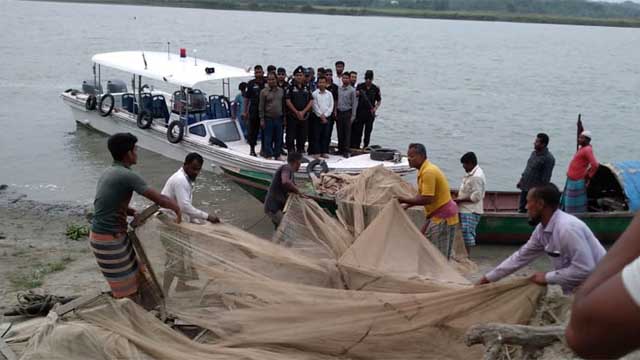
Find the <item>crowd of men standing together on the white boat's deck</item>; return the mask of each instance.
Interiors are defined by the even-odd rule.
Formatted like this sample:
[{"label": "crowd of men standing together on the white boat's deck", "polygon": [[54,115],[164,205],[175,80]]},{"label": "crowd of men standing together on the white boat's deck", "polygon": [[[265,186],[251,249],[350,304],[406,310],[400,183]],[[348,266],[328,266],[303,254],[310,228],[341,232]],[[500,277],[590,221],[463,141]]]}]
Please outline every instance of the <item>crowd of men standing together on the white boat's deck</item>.
[{"label": "crowd of men standing together on the white boat's deck", "polygon": [[328,158],[334,127],[338,154],[349,157],[350,149],[369,146],[382,101],[373,71],[358,84],[358,73],[345,71],[343,61],[336,61],[335,70],[334,76],[330,67],[316,73],[298,66],[289,77],[286,69],[269,65],[265,76],[261,65],[254,66],[255,78],[240,83],[232,112],[252,156],[260,140],[259,153],[267,159],[283,160],[287,152]]}]

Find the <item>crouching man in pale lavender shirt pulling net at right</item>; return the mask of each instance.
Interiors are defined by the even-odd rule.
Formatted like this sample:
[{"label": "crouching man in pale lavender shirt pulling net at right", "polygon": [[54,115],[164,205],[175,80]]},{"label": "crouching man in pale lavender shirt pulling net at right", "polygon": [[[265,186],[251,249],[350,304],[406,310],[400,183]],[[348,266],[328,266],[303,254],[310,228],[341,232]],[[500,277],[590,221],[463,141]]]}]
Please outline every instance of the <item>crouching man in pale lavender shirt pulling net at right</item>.
[{"label": "crouching man in pale lavender shirt pulling net at right", "polygon": [[557,284],[571,293],[591,274],[606,253],[589,227],[577,217],[558,209],[560,190],[552,184],[529,190],[529,224],[536,225],[526,244],[487,273],[478,284],[498,281],[543,254],[549,255],[554,270],[536,272],[531,281],[539,285]]}]

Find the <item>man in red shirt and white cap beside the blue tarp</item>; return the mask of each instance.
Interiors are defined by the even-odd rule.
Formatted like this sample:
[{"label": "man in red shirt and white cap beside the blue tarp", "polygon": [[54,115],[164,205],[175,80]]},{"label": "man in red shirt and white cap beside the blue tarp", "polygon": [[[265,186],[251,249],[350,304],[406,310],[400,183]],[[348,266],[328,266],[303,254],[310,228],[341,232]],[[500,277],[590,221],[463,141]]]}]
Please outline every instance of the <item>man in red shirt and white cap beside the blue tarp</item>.
[{"label": "man in red shirt and white cap beside the blue tarp", "polygon": [[568,213],[587,211],[587,184],[598,170],[598,160],[591,147],[591,131],[583,131],[578,137],[580,148],[573,155],[567,170],[567,182],[562,194],[562,208]]}]

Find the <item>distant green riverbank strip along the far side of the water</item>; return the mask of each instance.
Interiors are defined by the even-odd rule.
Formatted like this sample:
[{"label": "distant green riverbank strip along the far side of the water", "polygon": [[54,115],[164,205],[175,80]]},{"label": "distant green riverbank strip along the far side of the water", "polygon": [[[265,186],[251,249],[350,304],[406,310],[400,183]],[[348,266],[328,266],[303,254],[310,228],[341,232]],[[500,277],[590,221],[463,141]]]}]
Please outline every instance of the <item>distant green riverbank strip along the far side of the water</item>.
[{"label": "distant green riverbank strip along the far side of the water", "polygon": [[[64,0],[68,2],[86,2]],[[90,0],[207,9],[640,27],[640,4],[587,0]]]}]

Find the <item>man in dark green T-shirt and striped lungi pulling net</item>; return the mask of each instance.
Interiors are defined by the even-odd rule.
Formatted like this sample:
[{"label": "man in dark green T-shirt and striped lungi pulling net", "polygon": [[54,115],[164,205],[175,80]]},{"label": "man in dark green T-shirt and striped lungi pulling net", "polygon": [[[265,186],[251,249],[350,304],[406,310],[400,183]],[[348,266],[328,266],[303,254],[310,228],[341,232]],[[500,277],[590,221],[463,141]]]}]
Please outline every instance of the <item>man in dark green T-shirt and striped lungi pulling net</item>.
[{"label": "man in dark green T-shirt and striped lungi pulling net", "polygon": [[150,282],[138,264],[127,236],[127,216],[136,215],[136,211],[129,207],[131,196],[135,191],[161,207],[173,210],[178,215],[176,222],[180,222],[182,213],[175,201],[149,187],[140,175],[131,170],[138,160],[137,141],[130,133],[109,137],[107,146],[113,165],[98,180],[89,244],[113,297],[128,297],[149,307],[151,304],[146,291]]}]

